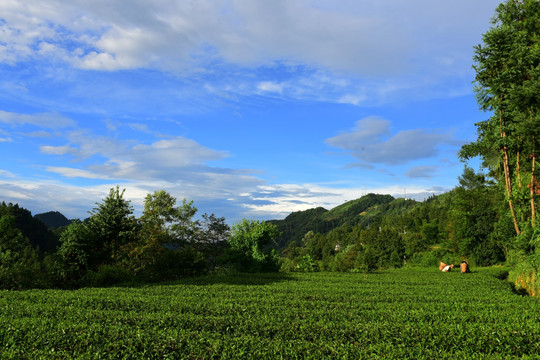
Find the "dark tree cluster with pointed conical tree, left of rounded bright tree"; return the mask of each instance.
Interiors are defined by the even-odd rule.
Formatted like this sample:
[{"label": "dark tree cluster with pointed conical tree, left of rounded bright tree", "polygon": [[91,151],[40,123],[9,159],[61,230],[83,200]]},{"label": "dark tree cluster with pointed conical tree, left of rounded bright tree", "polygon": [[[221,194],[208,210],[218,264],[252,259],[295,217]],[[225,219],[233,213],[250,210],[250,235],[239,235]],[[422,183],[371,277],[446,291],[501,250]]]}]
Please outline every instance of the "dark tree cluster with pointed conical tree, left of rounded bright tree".
[{"label": "dark tree cluster with pointed conical tree, left of rounded bright tree", "polygon": [[194,221],[192,201],[177,207],[161,190],[148,194],[137,220],[123,194],[111,189],[88,222],[75,221],[63,231],[58,252],[47,260],[56,286],[174,280],[215,266],[215,251],[223,251],[228,236],[224,218],[205,214],[203,222]]}]

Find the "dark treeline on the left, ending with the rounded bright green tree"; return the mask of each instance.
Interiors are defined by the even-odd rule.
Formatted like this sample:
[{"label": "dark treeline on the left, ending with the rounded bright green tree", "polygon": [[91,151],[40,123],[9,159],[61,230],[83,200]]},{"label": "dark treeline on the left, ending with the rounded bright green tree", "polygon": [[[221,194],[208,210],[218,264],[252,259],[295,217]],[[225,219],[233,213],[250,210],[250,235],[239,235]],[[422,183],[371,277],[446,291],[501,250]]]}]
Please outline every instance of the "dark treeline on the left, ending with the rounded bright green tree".
[{"label": "dark treeline on the left, ending with the rounded bright green tree", "polygon": [[[57,235],[28,210],[0,205],[0,288],[76,288],[175,280],[216,267],[245,272],[277,271],[269,247],[278,232],[265,222],[203,214],[193,201],[166,191],[148,194],[142,216],[118,187],[90,212]],[[33,240],[33,241],[32,241]],[[45,245],[45,246],[44,246]],[[41,247],[40,247],[41,246]]]}]

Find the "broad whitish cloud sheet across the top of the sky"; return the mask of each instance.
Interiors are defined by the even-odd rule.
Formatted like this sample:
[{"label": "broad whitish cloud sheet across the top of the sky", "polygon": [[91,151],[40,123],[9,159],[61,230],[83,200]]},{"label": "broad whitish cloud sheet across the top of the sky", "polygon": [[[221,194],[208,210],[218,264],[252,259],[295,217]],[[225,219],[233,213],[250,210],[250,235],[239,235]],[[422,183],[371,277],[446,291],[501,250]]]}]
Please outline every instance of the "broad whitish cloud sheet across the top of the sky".
[{"label": "broad whitish cloud sheet across the top of the sky", "polygon": [[[389,101],[411,89],[453,96],[462,93],[459,84],[470,88],[472,46],[498,3],[10,0],[0,4],[0,62],[41,57],[92,70],[151,68],[181,76],[219,71],[232,77],[238,66],[286,63],[329,78],[356,77],[334,84],[339,93],[332,101]],[[458,85],[443,85],[456,78]],[[267,91],[280,93],[282,82],[269,81],[256,79],[252,88],[273,84]],[[317,89],[291,87],[283,95],[302,95],[294,89],[307,88],[315,96]]]}]

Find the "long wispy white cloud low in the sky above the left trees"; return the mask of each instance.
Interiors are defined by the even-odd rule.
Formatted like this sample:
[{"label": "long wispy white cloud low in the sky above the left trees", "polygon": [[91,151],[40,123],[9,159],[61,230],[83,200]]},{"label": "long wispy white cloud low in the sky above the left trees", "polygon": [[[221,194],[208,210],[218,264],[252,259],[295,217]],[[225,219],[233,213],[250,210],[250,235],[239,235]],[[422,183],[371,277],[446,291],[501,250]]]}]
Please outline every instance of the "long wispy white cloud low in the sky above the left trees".
[{"label": "long wispy white cloud low in the sky above the left trees", "polygon": [[[71,145],[40,147],[44,154],[73,155],[76,162],[93,158],[91,165],[83,168],[46,167],[47,171],[67,178],[161,181],[168,186],[200,187],[206,193],[236,189],[236,182],[260,181],[249,175],[251,171],[207,166],[207,162],[222,160],[229,154],[181,136],[161,139],[150,145],[96,136],[83,130],[68,133],[67,137]],[[212,190],[213,187],[216,189]]]}]

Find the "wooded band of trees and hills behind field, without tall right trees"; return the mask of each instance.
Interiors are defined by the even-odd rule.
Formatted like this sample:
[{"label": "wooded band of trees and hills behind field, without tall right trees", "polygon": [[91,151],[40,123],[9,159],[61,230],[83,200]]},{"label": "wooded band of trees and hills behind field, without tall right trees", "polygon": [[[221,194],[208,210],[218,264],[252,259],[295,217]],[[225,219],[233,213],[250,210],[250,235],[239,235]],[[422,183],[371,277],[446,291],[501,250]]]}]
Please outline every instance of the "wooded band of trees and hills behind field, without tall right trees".
[{"label": "wooded band of trees and hills behind field, without tall right trees", "polygon": [[163,190],[146,196],[136,218],[124,192],[113,188],[88,219],[54,232],[28,210],[2,203],[0,287],[104,286],[230,269],[369,272],[462,260],[490,266],[516,264],[535,251],[514,233],[500,183],[469,167],[458,180],[423,202],[368,194],[331,210],[232,228],[214,214],[195,220],[192,201],[177,205]]}]

